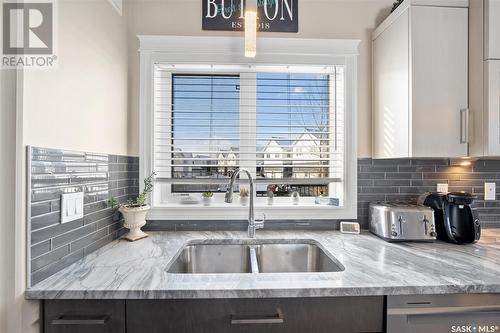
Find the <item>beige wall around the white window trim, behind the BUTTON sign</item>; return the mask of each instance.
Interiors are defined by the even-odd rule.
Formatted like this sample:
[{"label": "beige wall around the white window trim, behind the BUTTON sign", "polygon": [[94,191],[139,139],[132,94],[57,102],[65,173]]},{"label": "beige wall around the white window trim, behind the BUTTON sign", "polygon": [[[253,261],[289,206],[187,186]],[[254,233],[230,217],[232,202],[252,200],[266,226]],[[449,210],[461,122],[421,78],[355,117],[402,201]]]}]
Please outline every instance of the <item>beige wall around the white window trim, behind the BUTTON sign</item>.
[{"label": "beige wall around the white window trim, behind the BUTTON sign", "polygon": [[[266,37],[361,39],[359,57],[358,155],[371,156],[371,32],[388,15],[394,0],[299,0],[299,33],[261,33]],[[201,30],[200,0],[130,0],[129,151],[139,150],[139,58],[137,35],[238,36]]]}]

